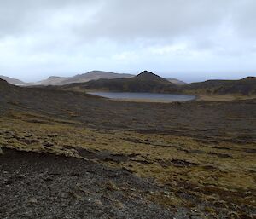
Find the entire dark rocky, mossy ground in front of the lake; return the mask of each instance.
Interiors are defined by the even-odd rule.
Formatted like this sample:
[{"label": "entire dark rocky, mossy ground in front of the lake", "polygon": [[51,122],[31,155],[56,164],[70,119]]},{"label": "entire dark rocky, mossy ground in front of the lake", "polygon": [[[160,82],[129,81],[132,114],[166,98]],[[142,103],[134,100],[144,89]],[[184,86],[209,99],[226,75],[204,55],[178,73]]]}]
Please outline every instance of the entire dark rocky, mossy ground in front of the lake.
[{"label": "entire dark rocky, mossy ground in front of the lake", "polygon": [[0,217],[254,218],[255,107],[0,80]]}]

